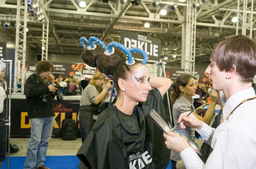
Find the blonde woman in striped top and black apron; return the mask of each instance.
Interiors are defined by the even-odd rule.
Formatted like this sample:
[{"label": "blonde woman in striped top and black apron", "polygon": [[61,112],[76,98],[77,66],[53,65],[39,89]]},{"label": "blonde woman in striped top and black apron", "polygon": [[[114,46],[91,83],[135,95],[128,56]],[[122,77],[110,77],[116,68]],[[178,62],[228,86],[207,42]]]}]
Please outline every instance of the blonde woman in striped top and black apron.
[{"label": "blonde woman in striped top and black apron", "polygon": [[93,128],[95,121],[97,120],[100,105],[109,96],[109,90],[111,89],[111,84],[107,83],[102,89],[104,84],[105,76],[101,73],[96,72],[93,78],[90,80],[89,85],[84,88],[84,91],[80,100],[80,113],[79,113],[79,123],[84,126],[85,135],[81,133],[82,141],[89,134],[90,130]]}]

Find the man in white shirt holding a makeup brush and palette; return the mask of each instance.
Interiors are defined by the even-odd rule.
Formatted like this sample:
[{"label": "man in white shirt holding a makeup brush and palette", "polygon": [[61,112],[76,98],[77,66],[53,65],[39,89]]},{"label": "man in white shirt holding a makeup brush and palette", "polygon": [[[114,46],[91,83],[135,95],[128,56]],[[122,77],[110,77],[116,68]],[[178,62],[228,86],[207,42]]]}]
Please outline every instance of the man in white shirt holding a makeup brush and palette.
[{"label": "man in white shirt holding a makeup brush and palette", "polygon": [[186,117],[188,112],[182,113],[178,122],[183,120],[182,129],[184,124],[195,128],[213,148],[211,155],[204,164],[192,147],[173,132],[164,134],[166,146],[180,153],[186,169],[255,169],[256,95],[252,81],[256,73],[256,42],[243,35],[225,39],[215,46],[210,60],[206,73],[212,88],[223,90],[228,99],[222,124],[215,130],[194,115]]}]

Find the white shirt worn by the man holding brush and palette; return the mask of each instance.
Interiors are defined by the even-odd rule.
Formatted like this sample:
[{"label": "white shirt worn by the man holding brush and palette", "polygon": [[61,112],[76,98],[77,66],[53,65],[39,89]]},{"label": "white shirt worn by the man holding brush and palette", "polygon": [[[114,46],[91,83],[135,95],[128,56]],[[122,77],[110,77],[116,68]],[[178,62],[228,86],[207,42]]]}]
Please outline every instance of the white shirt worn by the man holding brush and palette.
[{"label": "white shirt worn by the man holding brush and palette", "polygon": [[[241,101],[254,96],[253,87],[231,96],[223,108],[223,117]],[[205,123],[197,130],[213,148],[206,164],[192,147],[184,149],[180,157],[186,169],[256,169],[255,129],[256,99],[253,99],[241,104],[216,130]]]}]

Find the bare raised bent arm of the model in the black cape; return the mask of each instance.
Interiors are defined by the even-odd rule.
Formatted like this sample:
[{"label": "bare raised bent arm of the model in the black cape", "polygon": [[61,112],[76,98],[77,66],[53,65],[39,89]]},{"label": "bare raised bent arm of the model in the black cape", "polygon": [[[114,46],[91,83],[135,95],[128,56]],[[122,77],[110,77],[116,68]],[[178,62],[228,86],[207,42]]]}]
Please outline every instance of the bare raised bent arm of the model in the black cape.
[{"label": "bare raised bent arm of the model in the black cape", "polygon": [[172,85],[172,80],[163,77],[150,77],[149,84],[153,88],[157,88],[162,97]]}]

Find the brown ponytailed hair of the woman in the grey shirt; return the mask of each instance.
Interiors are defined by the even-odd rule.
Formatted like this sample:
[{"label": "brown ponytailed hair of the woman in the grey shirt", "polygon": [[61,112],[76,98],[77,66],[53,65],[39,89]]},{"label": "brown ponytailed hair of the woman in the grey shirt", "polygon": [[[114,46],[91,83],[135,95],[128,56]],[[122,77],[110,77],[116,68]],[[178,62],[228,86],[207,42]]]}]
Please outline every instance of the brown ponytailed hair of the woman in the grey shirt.
[{"label": "brown ponytailed hair of the woman in the grey shirt", "polygon": [[178,76],[175,80],[175,85],[176,88],[175,90],[173,90],[172,95],[171,95],[171,101],[172,103],[174,103],[176,101],[176,99],[178,99],[178,97],[181,95],[181,90],[180,90],[180,86],[185,87],[190,79],[193,78],[193,76],[189,75],[189,74],[181,74],[180,76]]}]

